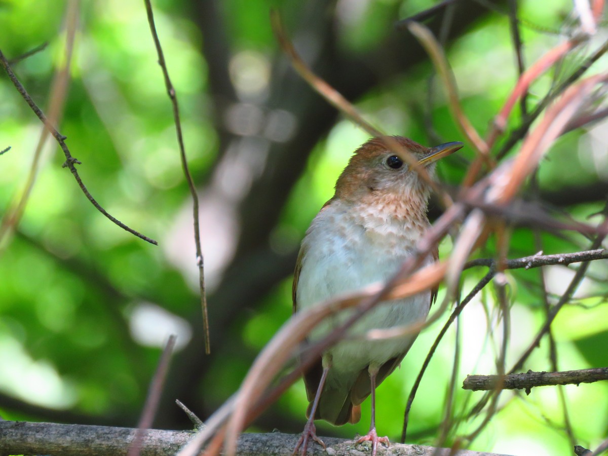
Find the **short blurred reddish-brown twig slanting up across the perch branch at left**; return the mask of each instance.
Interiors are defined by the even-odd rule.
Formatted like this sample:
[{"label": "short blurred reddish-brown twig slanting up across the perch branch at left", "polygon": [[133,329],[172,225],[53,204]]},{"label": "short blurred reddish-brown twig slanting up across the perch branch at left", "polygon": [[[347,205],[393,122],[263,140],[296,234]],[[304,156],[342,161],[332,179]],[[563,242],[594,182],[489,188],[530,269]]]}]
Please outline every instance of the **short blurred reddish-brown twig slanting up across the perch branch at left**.
[{"label": "short blurred reddish-brown twig slanting up across the perch branch at left", "polygon": [[148,397],[146,398],[146,403],[143,406],[142,416],[137,424],[137,432],[135,433],[133,442],[129,446],[129,456],[137,456],[140,454],[142,450],[143,436],[146,434],[147,430],[150,429],[152,422],[154,421],[154,415],[156,415],[158,402],[161,399],[162,388],[165,384],[165,379],[167,378],[169,361],[171,359],[171,354],[173,354],[175,340],[176,336],[171,334],[171,336],[169,336],[169,340],[167,340],[167,345],[165,345],[165,348],[162,351],[161,359],[159,359],[158,366],[156,367],[156,372],[154,372],[154,376],[150,382],[150,389],[148,389]]}]

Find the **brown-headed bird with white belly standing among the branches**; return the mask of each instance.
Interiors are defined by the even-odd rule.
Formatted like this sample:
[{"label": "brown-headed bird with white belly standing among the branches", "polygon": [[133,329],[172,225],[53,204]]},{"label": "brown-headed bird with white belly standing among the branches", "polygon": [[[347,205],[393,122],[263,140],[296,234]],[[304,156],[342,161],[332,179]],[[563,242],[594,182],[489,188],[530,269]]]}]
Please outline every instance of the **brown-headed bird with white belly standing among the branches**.
[{"label": "brown-headed bird with white belly standing among the branches", "polygon": [[[373,137],[361,145],[337,179],[334,196],[323,205],[302,240],[292,286],[294,313],[371,283],[387,282],[429,228],[430,185],[398,151],[391,150],[390,143],[395,141],[413,154],[431,178],[438,159],[463,147],[461,142],[448,142],[428,148],[402,136]],[[435,250],[423,265],[437,256]],[[436,295],[435,289],[381,302],[354,323],[347,335],[423,322]],[[308,342],[325,337],[352,312],[348,309],[326,317],[308,334]],[[325,448],[316,435],[314,420],[335,426],[357,423],[361,403],[369,395],[370,430],[358,443],[371,441],[373,456],[379,443],[388,445],[389,439],[376,432],[375,389],[401,364],[417,335],[384,340],[349,337],[326,349],[303,375],[308,421],[293,454],[300,449],[305,455],[311,439]]]}]

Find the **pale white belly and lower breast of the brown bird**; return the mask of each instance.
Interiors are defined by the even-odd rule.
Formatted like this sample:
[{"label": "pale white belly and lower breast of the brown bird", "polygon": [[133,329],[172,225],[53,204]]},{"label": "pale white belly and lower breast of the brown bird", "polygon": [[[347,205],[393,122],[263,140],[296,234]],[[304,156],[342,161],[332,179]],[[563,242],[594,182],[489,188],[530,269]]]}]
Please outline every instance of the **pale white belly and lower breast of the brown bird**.
[{"label": "pale white belly and lower breast of the brown bird", "polygon": [[[320,213],[317,218],[321,216],[327,218],[328,214]],[[335,214],[330,213],[329,216],[336,218]],[[327,226],[325,223],[324,228]],[[337,223],[329,226],[335,228],[320,230],[313,223],[303,243],[305,255],[297,288],[299,309],[357,291],[371,283],[386,282],[409,257],[413,246],[407,230],[392,232],[390,226],[383,226],[388,233],[379,235],[378,232],[370,232],[357,225],[348,230],[340,228]],[[402,300],[379,303],[351,326],[347,337],[361,336],[375,328],[392,328],[420,322],[426,319],[429,308],[430,291]],[[329,317],[311,332],[309,339],[314,341],[325,337],[352,313],[353,310],[349,309]],[[416,336],[417,334],[408,334],[395,339],[365,343],[362,340],[342,340],[327,353],[332,356],[335,370],[359,371],[370,362],[382,364],[405,353]]]}]

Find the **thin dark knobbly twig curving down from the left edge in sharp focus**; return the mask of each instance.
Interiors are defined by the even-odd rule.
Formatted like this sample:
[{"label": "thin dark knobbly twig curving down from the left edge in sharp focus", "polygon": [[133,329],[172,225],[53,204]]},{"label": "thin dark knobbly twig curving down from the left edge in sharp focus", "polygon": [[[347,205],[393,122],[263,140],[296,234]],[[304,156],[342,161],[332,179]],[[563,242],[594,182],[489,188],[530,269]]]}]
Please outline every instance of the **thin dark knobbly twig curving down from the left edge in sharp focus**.
[{"label": "thin dark knobbly twig curving down from the left edge in sharp focus", "polygon": [[89,190],[86,188],[85,184],[83,183],[82,179],[80,178],[80,175],[78,175],[78,171],[76,170],[76,167],[74,166],[74,164],[80,165],[81,163],[80,163],[80,161],[78,161],[77,159],[72,157],[72,154],[70,153],[70,150],[65,143],[65,140],[67,138],[55,129],[55,127],[49,122],[47,117],[44,115],[44,112],[42,112],[41,109],[38,108],[38,105],[36,105],[36,103],[32,100],[32,97],[30,97],[30,95],[27,93],[26,89],[23,87],[21,82],[19,82],[19,79],[16,77],[15,73],[11,69],[9,62],[7,61],[6,57],[4,57],[4,53],[2,53],[1,49],[0,49],[0,63],[2,64],[2,67],[4,67],[4,70],[7,72],[7,74],[9,75],[10,80],[12,81],[13,85],[15,86],[15,88],[17,89],[19,94],[21,94],[21,97],[23,97],[23,99],[26,100],[26,103],[30,106],[30,108],[32,108],[32,111],[36,114],[38,119],[40,119],[41,122],[44,123],[44,126],[46,126],[47,130],[49,130],[50,134],[52,134],[53,137],[55,138],[55,140],[57,140],[57,143],[59,144],[59,146],[61,147],[61,150],[63,150],[63,153],[66,156],[66,162],[63,164],[63,167],[66,167],[71,171],[72,175],[74,176],[74,179],[76,179],[76,182],[78,182],[78,186],[80,187],[80,190],[82,190],[82,192],[85,193],[86,198],[89,201],[91,201],[91,204],[93,206],[95,206],[95,209],[97,209],[99,212],[101,212],[103,215],[105,215],[106,218],[111,220],[112,223],[118,225],[123,230],[126,230],[126,231],[130,232],[131,234],[136,235],[138,238],[143,239],[144,241],[147,241],[150,244],[154,244],[155,246],[157,246],[158,243],[155,240],[148,238],[147,236],[144,236],[142,233],[126,226],[119,219],[111,216],[105,209],[103,209],[102,206],[100,206],[100,204],[95,200],[95,198],[93,198],[93,196],[91,195],[91,193],[89,193]]}]

